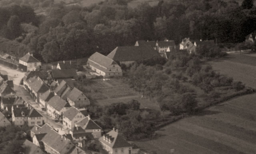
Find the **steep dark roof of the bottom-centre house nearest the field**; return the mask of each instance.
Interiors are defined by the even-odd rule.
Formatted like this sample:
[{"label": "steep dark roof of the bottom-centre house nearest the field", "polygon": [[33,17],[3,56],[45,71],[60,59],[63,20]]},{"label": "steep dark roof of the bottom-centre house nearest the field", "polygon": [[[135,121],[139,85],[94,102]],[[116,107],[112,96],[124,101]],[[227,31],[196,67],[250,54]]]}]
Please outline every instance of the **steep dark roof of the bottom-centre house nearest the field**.
[{"label": "steep dark roof of the bottom-centre house nearest the field", "polygon": [[[104,137],[109,139],[111,142],[107,142],[104,140]],[[132,145],[128,143],[118,132],[111,130],[104,136],[100,137],[100,142],[110,146],[111,148],[123,148],[123,147],[131,147]]]}]

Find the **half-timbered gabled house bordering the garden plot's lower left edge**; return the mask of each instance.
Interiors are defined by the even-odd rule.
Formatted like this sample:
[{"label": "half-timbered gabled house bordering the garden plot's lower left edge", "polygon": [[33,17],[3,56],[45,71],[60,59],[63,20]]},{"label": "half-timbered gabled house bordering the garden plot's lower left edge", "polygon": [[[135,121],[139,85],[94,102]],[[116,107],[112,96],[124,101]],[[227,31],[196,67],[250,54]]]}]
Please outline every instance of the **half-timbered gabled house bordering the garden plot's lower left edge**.
[{"label": "half-timbered gabled house bordering the garden plot's lower left edge", "polygon": [[76,87],[71,90],[67,96],[67,101],[71,106],[83,107],[90,105],[90,100],[86,95]]}]

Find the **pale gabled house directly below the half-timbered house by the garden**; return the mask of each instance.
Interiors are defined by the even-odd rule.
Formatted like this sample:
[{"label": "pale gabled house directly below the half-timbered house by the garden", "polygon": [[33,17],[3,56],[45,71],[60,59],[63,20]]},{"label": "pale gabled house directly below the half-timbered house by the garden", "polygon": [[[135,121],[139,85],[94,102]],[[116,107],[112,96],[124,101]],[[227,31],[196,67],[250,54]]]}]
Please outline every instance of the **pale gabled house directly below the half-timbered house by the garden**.
[{"label": "pale gabled house directly below the half-timbered house by the garden", "polygon": [[72,106],[63,113],[63,126],[64,128],[72,129],[76,122],[84,119],[86,116],[83,112]]}]

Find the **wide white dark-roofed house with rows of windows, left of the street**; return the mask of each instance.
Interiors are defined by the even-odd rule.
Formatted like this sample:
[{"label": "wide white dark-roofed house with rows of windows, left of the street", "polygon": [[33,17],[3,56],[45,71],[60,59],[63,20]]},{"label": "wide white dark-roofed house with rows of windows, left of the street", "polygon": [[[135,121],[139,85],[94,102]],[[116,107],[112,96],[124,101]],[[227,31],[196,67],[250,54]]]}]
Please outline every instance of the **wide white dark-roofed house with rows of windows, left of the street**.
[{"label": "wide white dark-roofed house with rows of windows, left of the street", "polygon": [[34,108],[18,107],[14,108],[12,113],[12,122],[17,126],[34,126],[35,124],[42,125],[44,122],[43,116]]}]

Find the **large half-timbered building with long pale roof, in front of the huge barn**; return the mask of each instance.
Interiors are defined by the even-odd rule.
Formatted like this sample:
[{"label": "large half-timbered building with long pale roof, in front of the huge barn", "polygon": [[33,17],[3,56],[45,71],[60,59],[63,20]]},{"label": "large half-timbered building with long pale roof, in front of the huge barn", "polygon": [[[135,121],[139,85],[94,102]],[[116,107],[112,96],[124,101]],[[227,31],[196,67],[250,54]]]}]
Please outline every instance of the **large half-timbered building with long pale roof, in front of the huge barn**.
[{"label": "large half-timbered building with long pale roof, in front of the huge barn", "polygon": [[87,61],[87,66],[95,71],[97,75],[103,77],[122,76],[121,67],[111,58],[108,58],[98,52],[90,56]]}]

